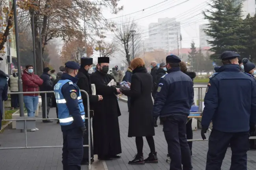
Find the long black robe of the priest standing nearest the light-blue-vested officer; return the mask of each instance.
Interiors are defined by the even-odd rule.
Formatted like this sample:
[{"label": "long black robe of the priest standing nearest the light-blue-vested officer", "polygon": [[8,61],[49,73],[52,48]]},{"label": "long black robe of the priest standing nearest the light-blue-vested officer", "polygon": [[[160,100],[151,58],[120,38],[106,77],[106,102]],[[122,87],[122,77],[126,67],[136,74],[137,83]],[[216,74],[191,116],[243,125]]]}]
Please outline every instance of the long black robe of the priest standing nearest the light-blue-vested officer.
[{"label": "long black robe of the priest standing nearest the light-blue-vested officer", "polygon": [[[89,96],[89,110],[91,109],[91,105],[93,103],[97,103],[98,102],[98,95],[92,95],[92,90],[91,90],[91,79],[90,79],[90,75],[88,73],[88,71],[86,71],[84,68],[79,69],[79,72],[77,74],[77,85],[79,87],[80,90],[85,90],[88,93]],[[81,92],[82,95],[82,99],[83,99],[83,107],[85,110],[85,117],[88,117],[88,113],[87,113],[87,96],[84,92]],[[92,115],[90,115],[90,118],[92,117]],[[87,119],[85,120],[87,121]],[[91,127],[90,127],[91,128]],[[85,136],[83,136],[83,145],[88,145],[88,127],[87,127],[87,131]],[[91,157],[93,157],[94,153],[93,153],[93,140],[92,140],[92,135],[91,135]],[[83,161],[88,160],[89,158],[89,154],[88,154],[89,150],[88,147],[83,147]]]}]

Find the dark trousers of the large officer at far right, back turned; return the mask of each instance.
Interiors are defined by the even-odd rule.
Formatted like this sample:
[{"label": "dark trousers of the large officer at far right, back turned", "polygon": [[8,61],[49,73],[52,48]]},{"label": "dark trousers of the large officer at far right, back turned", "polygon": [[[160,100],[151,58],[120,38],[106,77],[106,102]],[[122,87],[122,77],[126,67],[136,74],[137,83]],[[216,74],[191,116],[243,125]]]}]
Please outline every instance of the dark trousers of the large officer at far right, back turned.
[{"label": "dark trousers of the large officer at far right, back turned", "polygon": [[226,150],[232,150],[230,170],[247,170],[249,132],[221,132],[213,129],[209,137],[206,170],[220,170]]}]

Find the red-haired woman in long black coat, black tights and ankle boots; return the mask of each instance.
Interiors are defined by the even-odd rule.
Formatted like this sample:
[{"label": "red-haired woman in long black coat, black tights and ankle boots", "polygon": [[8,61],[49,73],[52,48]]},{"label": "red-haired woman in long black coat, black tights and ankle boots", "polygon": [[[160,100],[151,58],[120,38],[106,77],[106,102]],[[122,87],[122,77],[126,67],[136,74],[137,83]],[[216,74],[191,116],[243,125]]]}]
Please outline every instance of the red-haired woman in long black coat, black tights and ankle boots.
[{"label": "red-haired woman in long black coat, black tights and ankle boots", "polygon": [[[133,69],[130,89],[121,90],[124,95],[131,97],[128,137],[135,137],[137,146],[137,155],[134,160],[129,161],[129,164],[158,163],[153,138],[155,130],[152,117],[152,76],[147,73],[145,62],[141,58],[132,60],[130,66]],[[150,154],[145,160],[142,152],[143,136],[146,137],[150,147]]]}]

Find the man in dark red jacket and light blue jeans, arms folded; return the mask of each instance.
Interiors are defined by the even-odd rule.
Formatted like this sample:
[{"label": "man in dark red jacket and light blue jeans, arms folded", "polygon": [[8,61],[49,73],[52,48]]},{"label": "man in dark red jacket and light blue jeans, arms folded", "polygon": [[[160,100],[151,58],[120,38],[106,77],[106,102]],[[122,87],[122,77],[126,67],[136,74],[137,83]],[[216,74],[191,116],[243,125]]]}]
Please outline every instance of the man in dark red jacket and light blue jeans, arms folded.
[{"label": "man in dark red jacket and light blue jeans, arms folded", "polygon": [[[26,65],[21,79],[23,92],[38,92],[39,86],[43,84],[43,80],[34,74],[33,65]],[[28,111],[28,117],[34,117],[38,106],[38,93],[23,94],[23,101]],[[30,129],[31,132],[35,132],[35,130],[39,129]]]}]

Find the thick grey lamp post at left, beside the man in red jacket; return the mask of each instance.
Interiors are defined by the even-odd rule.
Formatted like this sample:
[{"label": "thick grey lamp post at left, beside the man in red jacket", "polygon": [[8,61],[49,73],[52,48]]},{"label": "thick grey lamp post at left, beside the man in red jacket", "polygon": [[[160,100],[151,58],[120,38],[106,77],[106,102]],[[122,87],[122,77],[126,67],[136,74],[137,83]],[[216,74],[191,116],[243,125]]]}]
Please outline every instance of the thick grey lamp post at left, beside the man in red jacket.
[{"label": "thick grey lamp post at left, beside the man in red jacket", "polygon": [[[22,92],[22,80],[21,80],[21,68],[20,68],[20,42],[19,42],[19,26],[17,20],[17,4],[16,0],[13,0],[13,15],[15,24],[15,40],[16,40],[16,51],[17,51],[17,62],[18,62],[18,89]],[[23,105],[23,94],[19,94],[19,107],[20,107],[20,117],[24,117],[24,105]],[[25,129],[26,130],[26,129]],[[23,132],[24,130],[20,130]]]}]

